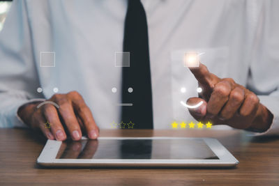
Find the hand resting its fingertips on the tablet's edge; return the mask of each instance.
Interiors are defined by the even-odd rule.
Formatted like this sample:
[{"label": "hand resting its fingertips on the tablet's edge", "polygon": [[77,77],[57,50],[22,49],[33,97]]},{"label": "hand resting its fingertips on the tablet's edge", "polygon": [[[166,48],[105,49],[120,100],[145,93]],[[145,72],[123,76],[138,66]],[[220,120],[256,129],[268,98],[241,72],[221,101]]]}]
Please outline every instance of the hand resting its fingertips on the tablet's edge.
[{"label": "hand resting its fingertips on the tablet's edge", "polygon": [[[68,133],[73,140],[78,141],[82,138],[82,131],[89,139],[97,139],[98,127],[80,93],[54,94],[48,101],[58,104],[59,109],[52,104],[43,104],[37,108],[40,102],[28,103],[20,107],[18,115],[33,129],[41,130],[47,139],[63,141]],[[45,127],[47,121],[50,128]]]}]

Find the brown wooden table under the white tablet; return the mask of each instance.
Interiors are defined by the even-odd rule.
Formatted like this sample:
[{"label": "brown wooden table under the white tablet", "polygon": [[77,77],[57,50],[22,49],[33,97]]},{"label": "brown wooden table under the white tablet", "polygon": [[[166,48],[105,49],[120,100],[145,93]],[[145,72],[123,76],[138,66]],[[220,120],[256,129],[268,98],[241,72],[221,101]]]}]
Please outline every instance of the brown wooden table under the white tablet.
[{"label": "brown wooden table under the white tablet", "polygon": [[240,130],[101,130],[102,137],[215,137],[239,160],[233,169],[43,169],[45,144],[23,129],[0,129],[0,185],[279,185],[279,137]]}]

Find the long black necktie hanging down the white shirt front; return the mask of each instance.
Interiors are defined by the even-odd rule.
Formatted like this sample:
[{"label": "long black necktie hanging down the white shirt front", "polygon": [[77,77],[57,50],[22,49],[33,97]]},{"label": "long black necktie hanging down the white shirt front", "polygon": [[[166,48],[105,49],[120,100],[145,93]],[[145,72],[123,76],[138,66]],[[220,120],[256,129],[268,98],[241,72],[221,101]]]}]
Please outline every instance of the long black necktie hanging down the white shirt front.
[{"label": "long black necktie hanging down the white shirt front", "polygon": [[149,40],[140,0],[128,0],[123,52],[130,52],[130,67],[122,68],[122,103],[133,106],[122,107],[122,121],[135,123],[134,128],[153,129]]}]

